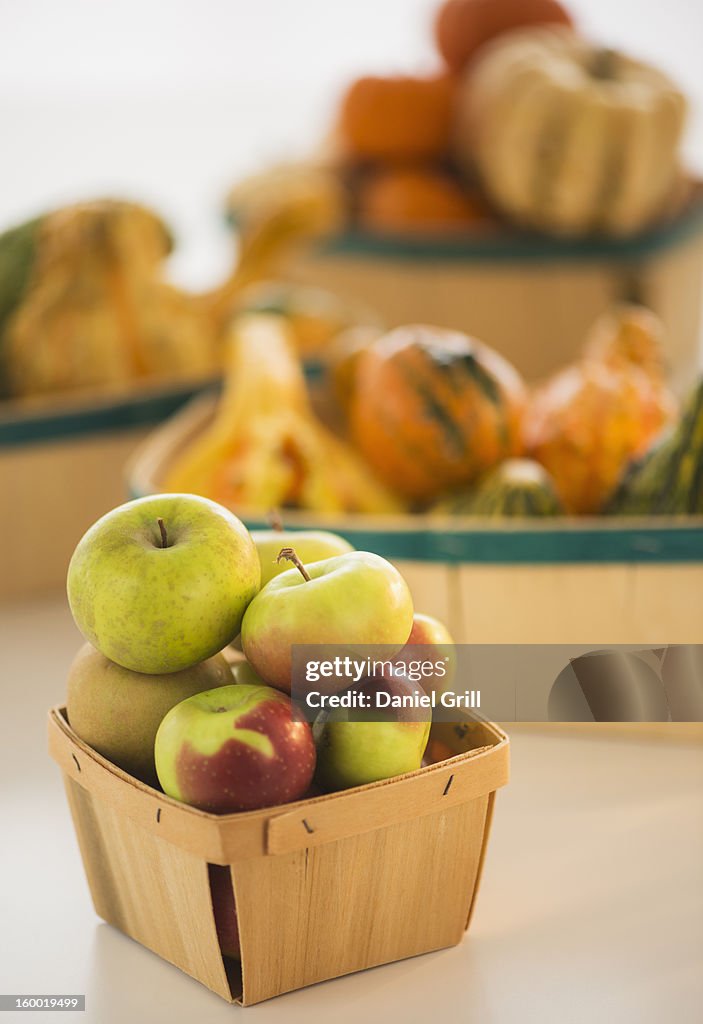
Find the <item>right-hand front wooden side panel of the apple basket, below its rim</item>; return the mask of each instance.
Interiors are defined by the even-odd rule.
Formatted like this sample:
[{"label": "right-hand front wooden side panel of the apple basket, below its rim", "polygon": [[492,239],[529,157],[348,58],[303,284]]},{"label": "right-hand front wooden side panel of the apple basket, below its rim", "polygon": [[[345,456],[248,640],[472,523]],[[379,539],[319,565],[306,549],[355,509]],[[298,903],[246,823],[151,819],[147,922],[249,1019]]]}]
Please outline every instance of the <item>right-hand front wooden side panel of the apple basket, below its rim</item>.
[{"label": "right-hand front wooden side panel of the apple basket, below its rim", "polygon": [[235,864],[244,1004],[457,943],[487,800]]}]

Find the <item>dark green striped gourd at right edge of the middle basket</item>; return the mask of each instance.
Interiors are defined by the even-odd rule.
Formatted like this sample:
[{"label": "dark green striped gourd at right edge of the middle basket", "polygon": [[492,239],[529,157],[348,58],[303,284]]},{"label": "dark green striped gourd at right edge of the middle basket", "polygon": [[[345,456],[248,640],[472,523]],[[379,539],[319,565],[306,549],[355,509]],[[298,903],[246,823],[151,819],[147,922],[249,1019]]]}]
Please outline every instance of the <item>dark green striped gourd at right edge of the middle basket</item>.
[{"label": "dark green striped gourd at right edge of the middle basket", "polygon": [[703,380],[678,424],[625,471],[611,515],[703,515]]}]

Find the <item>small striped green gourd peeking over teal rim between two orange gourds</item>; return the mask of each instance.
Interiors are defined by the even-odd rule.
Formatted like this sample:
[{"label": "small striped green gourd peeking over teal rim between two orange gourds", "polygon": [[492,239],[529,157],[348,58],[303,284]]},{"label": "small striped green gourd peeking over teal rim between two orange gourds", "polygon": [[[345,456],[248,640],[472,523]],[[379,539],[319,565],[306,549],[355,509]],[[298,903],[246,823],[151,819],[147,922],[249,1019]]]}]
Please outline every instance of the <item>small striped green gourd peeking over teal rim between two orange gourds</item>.
[{"label": "small striped green gourd peeking over teal rim between two orange gourds", "polygon": [[471,490],[450,495],[435,511],[489,517],[564,514],[550,474],[531,459],[507,459]]}]

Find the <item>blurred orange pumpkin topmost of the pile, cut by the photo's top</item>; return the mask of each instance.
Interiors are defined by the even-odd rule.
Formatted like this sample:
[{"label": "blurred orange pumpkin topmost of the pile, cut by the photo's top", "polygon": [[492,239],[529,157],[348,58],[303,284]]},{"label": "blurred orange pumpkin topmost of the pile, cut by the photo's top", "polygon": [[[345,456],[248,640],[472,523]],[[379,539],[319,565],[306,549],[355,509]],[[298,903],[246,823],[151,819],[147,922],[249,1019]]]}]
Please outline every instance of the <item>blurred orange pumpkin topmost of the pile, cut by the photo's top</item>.
[{"label": "blurred orange pumpkin topmost of the pile, cut by the photo's top", "polygon": [[435,36],[452,72],[488,40],[531,25],[573,25],[558,0],[447,0],[437,12]]}]

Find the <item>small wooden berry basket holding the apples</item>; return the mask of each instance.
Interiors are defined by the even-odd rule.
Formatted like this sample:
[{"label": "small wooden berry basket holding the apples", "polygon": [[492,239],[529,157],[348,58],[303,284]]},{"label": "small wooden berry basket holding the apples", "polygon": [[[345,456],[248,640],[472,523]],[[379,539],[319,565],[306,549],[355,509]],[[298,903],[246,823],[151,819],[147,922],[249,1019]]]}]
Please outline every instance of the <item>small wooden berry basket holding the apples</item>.
[{"label": "small wooden berry basket holding the apples", "polygon": [[[419,771],[243,814],[186,807],[116,768],[49,713],[96,912],[229,1001],[455,945],[474,909],[509,741],[433,726]],[[230,868],[241,944],[225,962],[209,864]]]}]

